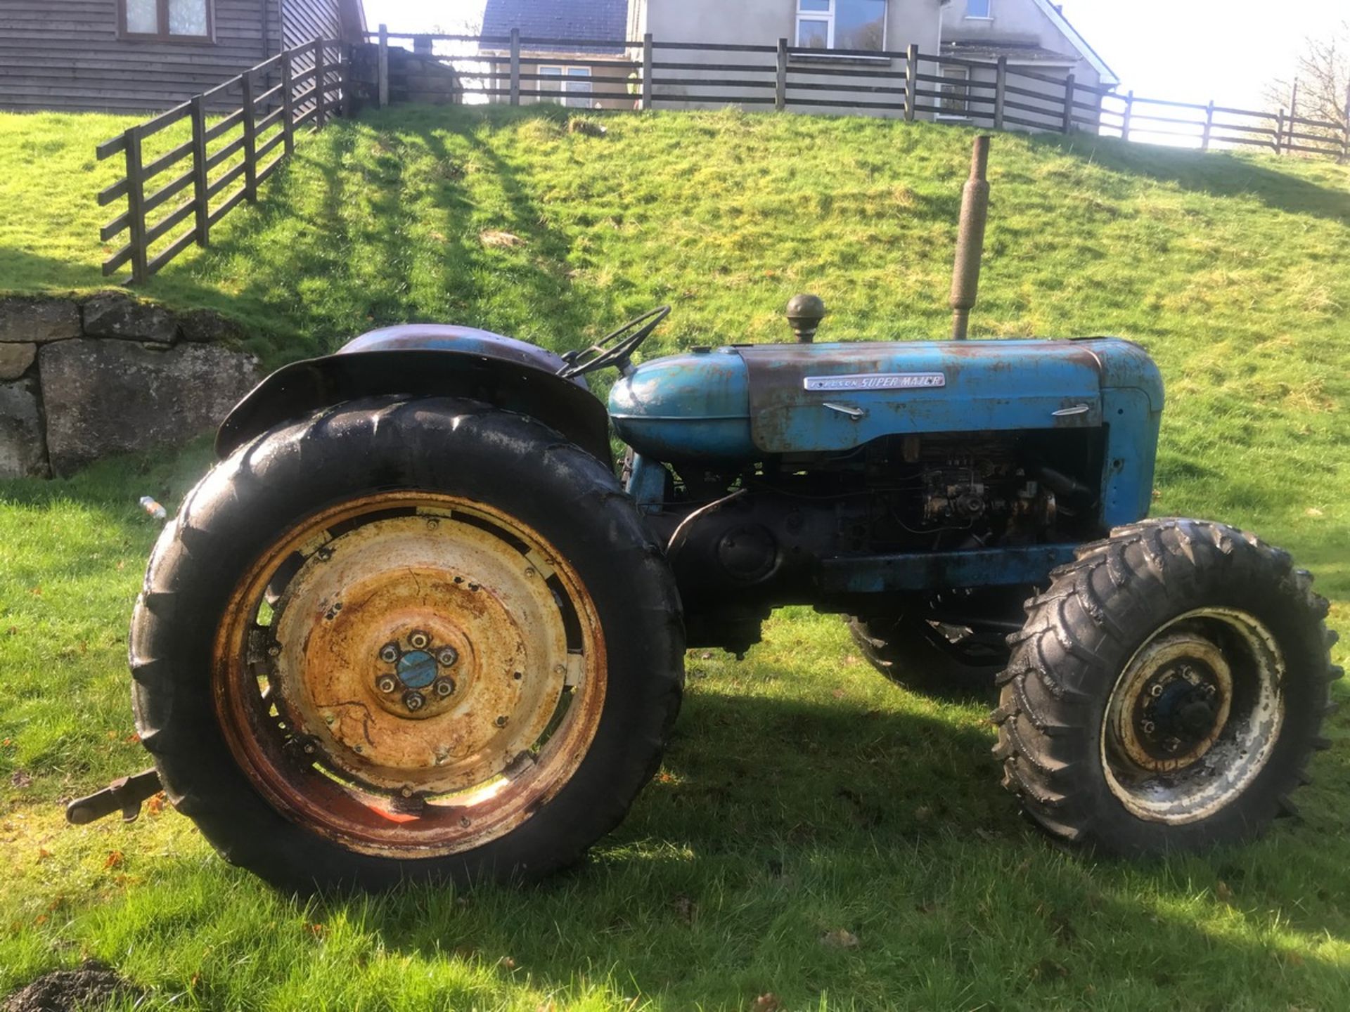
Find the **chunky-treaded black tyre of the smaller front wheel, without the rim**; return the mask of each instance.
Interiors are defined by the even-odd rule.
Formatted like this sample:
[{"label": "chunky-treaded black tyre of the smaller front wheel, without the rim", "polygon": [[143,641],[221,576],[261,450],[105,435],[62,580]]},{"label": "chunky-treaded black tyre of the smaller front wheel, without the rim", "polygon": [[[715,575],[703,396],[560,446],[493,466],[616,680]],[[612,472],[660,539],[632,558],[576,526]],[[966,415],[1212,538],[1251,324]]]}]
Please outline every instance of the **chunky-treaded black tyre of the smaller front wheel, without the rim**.
[{"label": "chunky-treaded black tyre of the smaller front wheel, without the rim", "polygon": [[[1277,745],[1284,754],[1278,765],[1273,754],[1258,776],[1268,783],[1251,811],[1220,818],[1220,810],[1168,833],[1142,819],[1134,827],[1112,811],[1114,796],[1102,780],[1102,712],[1120,658],[1138,645],[1129,630],[1138,640],[1141,630],[1193,607],[1193,595],[1206,592],[1215,572],[1235,586],[1261,583],[1273,613],[1293,630],[1292,646],[1281,642],[1287,654],[1299,654],[1287,657],[1291,710]],[[1326,748],[1319,727],[1331,708],[1330,683],[1342,675],[1330,660],[1335,634],[1323,623],[1327,602],[1314,592],[1311,573],[1296,569],[1287,552],[1228,525],[1164,518],[1116,528],[1080,546],[1050,579],[1044,594],[1026,602],[1023,629],[1008,637],[1013,654],[998,677],[999,706],[991,715],[1003,785],[1041,828],[1107,851],[1157,853],[1254,835],[1269,816],[1295,811],[1288,795],[1307,781],[1312,752]]]}]

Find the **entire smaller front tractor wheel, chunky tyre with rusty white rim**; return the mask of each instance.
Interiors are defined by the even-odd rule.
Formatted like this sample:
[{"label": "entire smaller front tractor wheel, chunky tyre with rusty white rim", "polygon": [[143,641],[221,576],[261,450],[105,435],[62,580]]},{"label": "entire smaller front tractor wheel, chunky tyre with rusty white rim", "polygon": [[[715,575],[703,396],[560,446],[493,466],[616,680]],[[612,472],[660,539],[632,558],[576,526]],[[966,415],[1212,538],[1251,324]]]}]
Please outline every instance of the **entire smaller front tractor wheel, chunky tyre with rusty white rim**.
[{"label": "entire smaller front tractor wheel, chunky tyre with rusty white rim", "polygon": [[1146,855],[1293,812],[1341,671],[1327,602],[1285,552],[1222,524],[1143,521],[1084,545],[1026,610],[994,753],[1044,830]]}]

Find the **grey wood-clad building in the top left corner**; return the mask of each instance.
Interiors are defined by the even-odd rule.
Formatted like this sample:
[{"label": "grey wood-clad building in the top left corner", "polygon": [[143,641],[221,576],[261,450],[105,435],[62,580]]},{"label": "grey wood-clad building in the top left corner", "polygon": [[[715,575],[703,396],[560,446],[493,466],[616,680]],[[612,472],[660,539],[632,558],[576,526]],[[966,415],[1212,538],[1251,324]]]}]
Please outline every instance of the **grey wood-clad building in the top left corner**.
[{"label": "grey wood-clad building in the top left corner", "polygon": [[0,109],[165,109],[364,31],[362,0],[0,0]]}]

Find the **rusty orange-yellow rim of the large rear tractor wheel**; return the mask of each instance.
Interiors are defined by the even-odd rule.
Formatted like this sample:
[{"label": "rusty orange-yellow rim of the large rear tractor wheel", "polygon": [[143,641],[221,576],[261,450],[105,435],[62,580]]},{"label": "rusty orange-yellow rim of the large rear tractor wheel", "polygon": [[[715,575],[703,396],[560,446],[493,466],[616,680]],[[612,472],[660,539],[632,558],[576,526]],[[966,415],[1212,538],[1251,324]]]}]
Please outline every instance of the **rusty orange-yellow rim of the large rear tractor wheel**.
[{"label": "rusty orange-yellow rim of the large rear tractor wheel", "polygon": [[216,636],[216,712],[282,814],[359,853],[460,853],[580,765],[605,698],[585,584],[483,503],[389,493],[279,537]]}]

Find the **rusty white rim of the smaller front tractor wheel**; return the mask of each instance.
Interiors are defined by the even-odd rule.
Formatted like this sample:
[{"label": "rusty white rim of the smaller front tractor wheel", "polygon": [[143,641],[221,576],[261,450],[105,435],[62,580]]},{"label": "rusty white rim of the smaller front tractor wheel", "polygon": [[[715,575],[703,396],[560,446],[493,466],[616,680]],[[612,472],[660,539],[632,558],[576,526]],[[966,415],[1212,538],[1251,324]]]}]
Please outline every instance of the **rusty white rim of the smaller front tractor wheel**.
[{"label": "rusty white rim of the smaller front tractor wheel", "polygon": [[1284,723],[1284,656],[1254,615],[1187,611],[1157,629],[1107,700],[1100,760],[1133,815],[1184,824],[1261,773]]}]

